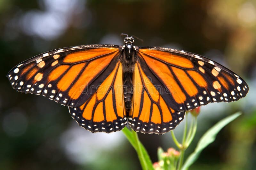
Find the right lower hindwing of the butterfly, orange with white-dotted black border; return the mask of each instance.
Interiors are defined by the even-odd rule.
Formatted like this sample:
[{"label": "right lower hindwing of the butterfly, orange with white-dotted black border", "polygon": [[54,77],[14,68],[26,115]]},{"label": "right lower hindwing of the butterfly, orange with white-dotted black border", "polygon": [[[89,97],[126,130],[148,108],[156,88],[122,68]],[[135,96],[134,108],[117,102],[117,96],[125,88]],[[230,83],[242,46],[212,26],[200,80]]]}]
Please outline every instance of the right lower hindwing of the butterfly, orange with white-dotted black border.
[{"label": "right lower hindwing of the butterfly, orange with white-dotted black border", "polygon": [[163,134],[176,127],[184,118],[184,111],[174,111],[164,101],[159,89],[143,72],[140,62],[134,67],[134,91],[129,125],[134,131]]}]

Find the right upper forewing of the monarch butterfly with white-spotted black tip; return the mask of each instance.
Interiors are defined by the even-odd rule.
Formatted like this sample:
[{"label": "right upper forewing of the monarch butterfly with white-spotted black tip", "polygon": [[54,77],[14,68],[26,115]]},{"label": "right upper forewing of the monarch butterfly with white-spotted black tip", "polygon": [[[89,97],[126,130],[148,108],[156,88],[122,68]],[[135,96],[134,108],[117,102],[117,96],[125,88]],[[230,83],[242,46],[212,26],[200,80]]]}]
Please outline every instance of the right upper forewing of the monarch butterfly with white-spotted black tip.
[{"label": "right upper forewing of the monarch butterfly with white-spotted black tip", "polygon": [[236,101],[249,90],[245,81],[226,67],[193,53],[140,47],[138,56],[145,75],[162,89],[161,96],[173,110]]}]

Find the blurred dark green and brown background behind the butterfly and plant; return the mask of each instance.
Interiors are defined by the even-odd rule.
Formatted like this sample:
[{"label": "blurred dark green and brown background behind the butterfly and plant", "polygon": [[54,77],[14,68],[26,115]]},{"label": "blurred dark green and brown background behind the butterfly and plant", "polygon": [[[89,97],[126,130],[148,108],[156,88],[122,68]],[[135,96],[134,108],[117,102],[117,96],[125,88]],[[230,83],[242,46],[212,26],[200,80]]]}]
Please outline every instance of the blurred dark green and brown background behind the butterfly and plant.
[{"label": "blurred dark green and brown background behind the butterfly and plant", "polygon": [[[204,55],[244,78],[248,95],[201,108],[192,152],[201,135],[238,110],[191,169],[256,166],[256,1],[0,0],[0,169],[140,169],[122,132],[79,127],[68,108],[11,88],[5,75],[16,64],[49,50],[86,44],[164,46]],[[183,122],[184,123],[184,122]],[[175,134],[182,134],[181,123]],[[158,146],[173,146],[170,133],[139,134],[153,162]]]}]

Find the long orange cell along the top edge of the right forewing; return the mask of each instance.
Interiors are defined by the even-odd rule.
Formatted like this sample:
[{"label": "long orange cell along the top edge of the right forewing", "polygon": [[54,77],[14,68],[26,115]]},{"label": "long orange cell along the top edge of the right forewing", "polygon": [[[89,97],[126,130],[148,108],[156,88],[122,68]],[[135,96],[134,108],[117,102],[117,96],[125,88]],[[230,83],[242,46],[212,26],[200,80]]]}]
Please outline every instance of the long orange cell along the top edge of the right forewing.
[{"label": "long orange cell along the top edge of the right forewing", "polygon": [[[170,52],[152,50],[152,49],[140,49],[140,53],[143,57],[148,54],[154,58],[167,62],[171,65],[176,65],[184,68],[193,68],[193,63],[185,57],[174,55]],[[144,53],[144,54],[143,54]]]}]

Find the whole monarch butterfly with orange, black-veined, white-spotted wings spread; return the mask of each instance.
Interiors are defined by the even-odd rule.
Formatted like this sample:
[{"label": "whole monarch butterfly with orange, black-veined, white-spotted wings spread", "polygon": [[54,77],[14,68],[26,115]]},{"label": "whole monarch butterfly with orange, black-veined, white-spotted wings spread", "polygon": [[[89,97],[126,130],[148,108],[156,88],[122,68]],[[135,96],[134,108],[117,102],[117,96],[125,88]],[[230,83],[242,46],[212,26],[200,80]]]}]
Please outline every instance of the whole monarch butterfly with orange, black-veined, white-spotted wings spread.
[{"label": "whole monarch butterfly with orange, black-veined, white-spotted wings spread", "polygon": [[212,102],[232,102],[249,88],[237,74],[203,56],[171,48],[85,45],[37,55],[15,66],[12,88],[68,106],[91,132],[164,134],[185,111]]}]

